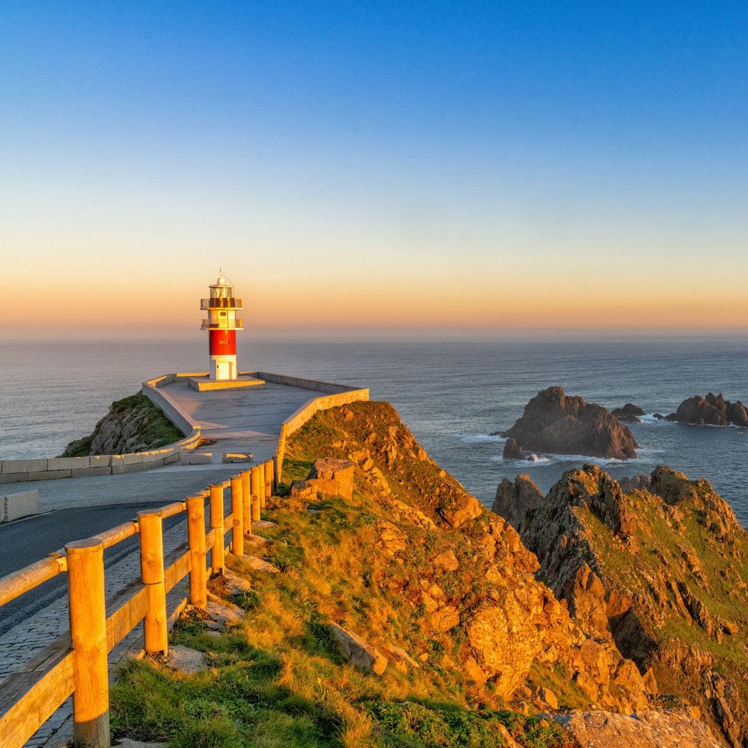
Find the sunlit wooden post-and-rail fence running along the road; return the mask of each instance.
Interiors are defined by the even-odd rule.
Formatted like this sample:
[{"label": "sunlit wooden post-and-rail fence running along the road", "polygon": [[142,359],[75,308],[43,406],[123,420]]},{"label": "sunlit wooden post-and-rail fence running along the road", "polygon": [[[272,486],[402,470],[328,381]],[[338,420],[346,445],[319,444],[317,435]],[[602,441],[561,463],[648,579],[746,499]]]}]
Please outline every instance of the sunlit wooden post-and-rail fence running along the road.
[{"label": "sunlit wooden post-and-rail fence running along the road", "polygon": [[[204,608],[207,580],[211,574],[223,573],[225,553],[244,553],[245,532],[251,533],[266,495],[277,488],[274,473],[272,460],[254,465],[183,501],[139,512],[132,521],[68,543],[63,550],[0,579],[0,605],[4,605],[67,573],[70,611],[69,631],[0,681],[3,748],[22,746],[71,694],[76,748],[109,747],[108,652],[141,621],[144,652],[168,651],[168,630],[186,602]],[[231,499],[228,515],[224,515],[226,488]],[[163,521],[181,512],[186,512],[186,541],[165,556]],[[225,545],[228,532],[231,542]],[[140,579],[106,600],[104,551],[135,535],[140,545]],[[187,574],[188,598],[180,601],[170,618],[166,595]]]}]

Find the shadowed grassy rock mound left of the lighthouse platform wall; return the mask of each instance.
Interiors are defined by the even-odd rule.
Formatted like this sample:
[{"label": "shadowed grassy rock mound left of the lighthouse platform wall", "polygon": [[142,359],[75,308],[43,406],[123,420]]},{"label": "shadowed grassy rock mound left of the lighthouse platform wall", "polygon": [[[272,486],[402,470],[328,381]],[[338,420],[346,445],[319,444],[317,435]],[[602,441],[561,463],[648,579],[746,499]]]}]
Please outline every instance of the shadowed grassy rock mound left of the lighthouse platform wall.
[{"label": "shadowed grassy rock mound left of the lighthouse platform wall", "polygon": [[61,457],[122,455],[174,444],[184,434],[145,395],[115,400],[90,436],[71,441]]}]

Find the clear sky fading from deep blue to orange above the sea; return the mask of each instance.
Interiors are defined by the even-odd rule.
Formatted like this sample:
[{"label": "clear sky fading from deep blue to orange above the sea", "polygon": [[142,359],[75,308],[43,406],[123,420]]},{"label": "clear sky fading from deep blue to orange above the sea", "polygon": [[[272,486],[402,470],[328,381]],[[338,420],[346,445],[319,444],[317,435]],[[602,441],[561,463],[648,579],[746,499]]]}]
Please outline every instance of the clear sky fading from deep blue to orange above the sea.
[{"label": "clear sky fading from deep blue to orange above the sea", "polygon": [[748,331],[744,2],[0,4],[0,337]]}]

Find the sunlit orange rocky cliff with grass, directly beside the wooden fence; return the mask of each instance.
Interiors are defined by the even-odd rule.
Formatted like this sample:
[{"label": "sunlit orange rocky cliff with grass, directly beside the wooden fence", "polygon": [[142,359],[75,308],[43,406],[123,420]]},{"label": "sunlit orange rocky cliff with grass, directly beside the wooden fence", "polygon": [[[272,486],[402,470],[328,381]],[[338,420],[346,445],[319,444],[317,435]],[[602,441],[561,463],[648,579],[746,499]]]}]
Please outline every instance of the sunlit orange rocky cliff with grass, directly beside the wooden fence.
[{"label": "sunlit orange rocky cliff with grass, directly beside the wooden fence", "polygon": [[[232,598],[246,622],[224,634],[204,616],[180,622],[171,642],[209,665],[197,676],[129,663],[112,690],[117,735],[357,748],[607,748],[625,735],[631,748],[717,748],[596,619],[570,613],[518,533],[387,403],[317,413],[289,441],[278,494],[249,555],[230,557],[248,581]],[[615,498],[598,512],[631,531]],[[227,580],[211,584],[224,594]]]}]

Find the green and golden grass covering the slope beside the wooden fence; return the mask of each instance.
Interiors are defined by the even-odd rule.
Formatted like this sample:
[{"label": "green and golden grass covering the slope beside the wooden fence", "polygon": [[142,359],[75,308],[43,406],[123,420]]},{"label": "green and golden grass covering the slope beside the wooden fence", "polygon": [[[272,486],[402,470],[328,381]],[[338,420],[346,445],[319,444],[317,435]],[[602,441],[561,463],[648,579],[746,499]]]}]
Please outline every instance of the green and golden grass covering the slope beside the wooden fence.
[{"label": "green and golden grass covering the slope beside the wooden fence", "polygon": [[[292,440],[284,478],[306,476],[339,437],[318,414]],[[407,481],[398,490],[407,494]],[[459,636],[427,631],[414,601],[400,593],[442,544],[460,553],[449,536],[414,530],[405,562],[384,556],[375,549],[381,507],[361,479],[352,503],[324,498],[310,507],[318,513],[286,498],[269,506],[266,518],[278,527],[263,530],[273,541],[266,557],[282,573],[251,574],[233,559],[235,571],[253,581],[240,601],[251,611],[248,622],[218,638],[199,621],[178,625],[172,641],[208,653],[209,672],[179,676],[155,663],[129,663],[111,693],[116,734],[184,747],[491,747],[506,744],[503,725],[527,748],[572,745],[555,723],[476,693],[453,666]],[[440,582],[446,592],[448,582]],[[360,672],[341,660],[328,621],[375,646],[402,646],[419,666],[390,657],[383,675]]]}]

